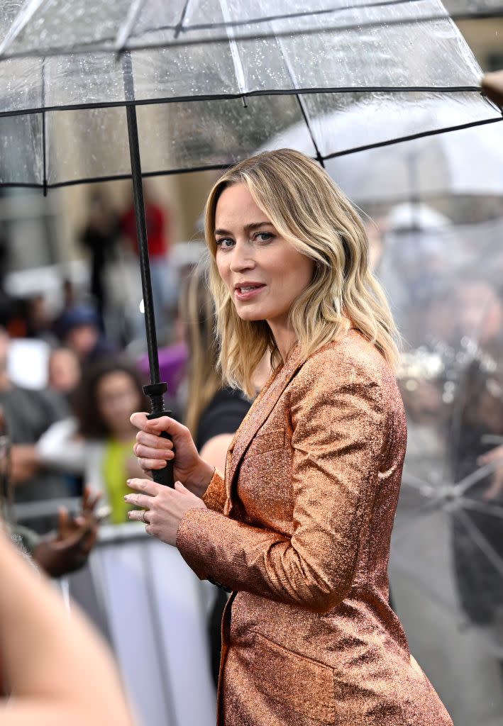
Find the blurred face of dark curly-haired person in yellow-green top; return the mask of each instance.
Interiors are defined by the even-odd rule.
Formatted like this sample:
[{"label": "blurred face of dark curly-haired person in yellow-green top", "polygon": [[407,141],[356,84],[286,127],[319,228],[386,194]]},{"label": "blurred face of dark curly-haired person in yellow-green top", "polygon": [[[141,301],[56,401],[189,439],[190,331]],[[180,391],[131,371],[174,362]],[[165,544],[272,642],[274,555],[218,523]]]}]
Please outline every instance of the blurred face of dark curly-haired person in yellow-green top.
[{"label": "blurred face of dark curly-haired person in yellow-green top", "polygon": [[131,376],[124,371],[104,375],[97,384],[97,409],[110,431],[129,431],[129,417],[141,406],[140,394]]}]

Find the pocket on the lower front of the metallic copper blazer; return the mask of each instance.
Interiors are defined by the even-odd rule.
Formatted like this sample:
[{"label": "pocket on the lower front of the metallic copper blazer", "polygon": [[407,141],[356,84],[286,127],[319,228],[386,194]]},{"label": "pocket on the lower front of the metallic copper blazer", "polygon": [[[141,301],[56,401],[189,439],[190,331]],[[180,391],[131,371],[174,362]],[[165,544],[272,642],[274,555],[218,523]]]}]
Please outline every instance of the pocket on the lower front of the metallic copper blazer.
[{"label": "pocket on the lower front of the metallic copper blazer", "polygon": [[261,690],[275,701],[288,704],[298,714],[323,724],[334,724],[331,667],[292,653],[256,631],[254,635],[262,671]]}]

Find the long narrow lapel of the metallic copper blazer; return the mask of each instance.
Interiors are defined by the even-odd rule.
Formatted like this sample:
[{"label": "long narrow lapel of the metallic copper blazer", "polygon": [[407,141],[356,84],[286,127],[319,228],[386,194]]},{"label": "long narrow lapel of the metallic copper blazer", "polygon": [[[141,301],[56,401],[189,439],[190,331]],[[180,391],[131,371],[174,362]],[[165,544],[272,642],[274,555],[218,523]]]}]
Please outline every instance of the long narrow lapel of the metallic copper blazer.
[{"label": "long narrow lapel of the metallic copper blazer", "polygon": [[286,386],[288,386],[295,372],[297,372],[299,367],[302,366],[304,360],[305,359],[300,355],[299,346],[295,346],[281,370],[278,371],[269,385],[266,385],[259,393],[257,399],[255,399],[251,409],[244,418],[243,423],[241,423],[238,431],[236,431],[236,436],[229,446],[226,461],[225,489],[227,502],[224,510],[226,515],[230,513],[232,508],[230,493],[232,491],[234,478],[236,477],[236,471],[238,470],[238,466],[246,453],[246,449],[248,449],[249,445],[252,443],[252,440],[259,428],[267,420],[267,417],[275,407],[281,393],[283,393]]}]

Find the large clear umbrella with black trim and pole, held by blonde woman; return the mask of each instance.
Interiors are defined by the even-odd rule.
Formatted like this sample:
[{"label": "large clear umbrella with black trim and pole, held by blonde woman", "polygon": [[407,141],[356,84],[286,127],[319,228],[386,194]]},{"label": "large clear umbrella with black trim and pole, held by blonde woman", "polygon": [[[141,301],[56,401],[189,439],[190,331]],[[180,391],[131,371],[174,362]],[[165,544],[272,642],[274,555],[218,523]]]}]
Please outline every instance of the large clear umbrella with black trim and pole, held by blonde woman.
[{"label": "large clear umbrella with black trim and pole, held by blonde woman", "polygon": [[494,121],[480,76],[439,0],[281,0],[274,15],[262,0],[14,0],[0,7],[0,184],[132,177],[161,415],[142,176],[228,166],[297,122],[323,161],[315,118],[355,104],[369,146],[401,137],[396,114],[374,134],[382,105],[410,136],[451,128],[423,107],[451,108],[456,128]]}]

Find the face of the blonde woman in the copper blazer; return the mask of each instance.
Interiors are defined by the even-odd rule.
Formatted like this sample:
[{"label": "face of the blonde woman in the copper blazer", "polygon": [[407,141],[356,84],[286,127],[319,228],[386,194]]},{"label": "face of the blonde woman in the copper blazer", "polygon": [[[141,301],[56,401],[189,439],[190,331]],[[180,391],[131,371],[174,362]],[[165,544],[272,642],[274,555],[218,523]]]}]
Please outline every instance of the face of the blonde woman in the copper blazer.
[{"label": "face of the blonde woman in the copper blazer", "polygon": [[217,267],[244,320],[286,325],[314,262],[281,237],[246,184],[224,189],[215,213]]}]

